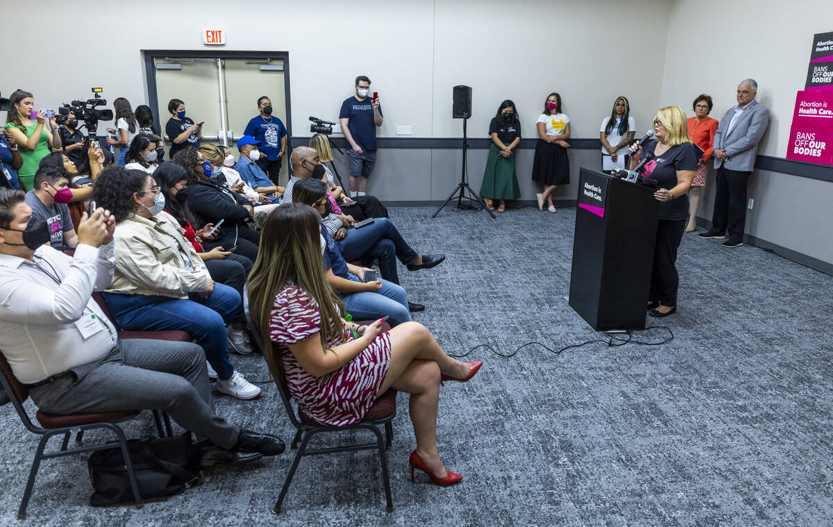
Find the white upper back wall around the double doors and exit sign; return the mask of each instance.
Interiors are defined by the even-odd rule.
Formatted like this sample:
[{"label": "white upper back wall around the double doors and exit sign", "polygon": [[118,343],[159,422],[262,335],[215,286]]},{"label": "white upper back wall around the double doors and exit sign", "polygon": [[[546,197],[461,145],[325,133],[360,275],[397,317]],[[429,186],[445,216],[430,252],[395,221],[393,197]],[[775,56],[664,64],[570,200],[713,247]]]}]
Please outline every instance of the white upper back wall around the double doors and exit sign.
[{"label": "white upper back wall around the double doors and exit sign", "polygon": [[[558,91],[574,137],[595,138],[617,95],[631,99],[640,128],[646,128],[660,96],[665,43],[656,47],[656,68],[634,68],[621,60],[621,50],[643,42],[639,35],[664,40],[671,3],[621,5],[613,0],[245,5],[147,0],[139,6],[87,0],[71,6],[39,0],[27,4],[27,20],[60,20],[61,28],[92,25],[97,29],[85,33],[92,33],[95,45],[90,48],[87,38],[63,38],[61,31],[47,37],[51,29],[35,39],[30,26],[4,24],[4,42],[26,43],[26,52],[3,58],[0,91],[27,89],[37,107],[54,108],[87,97],[91,86],[103,86],[108,101],[126,97],[136,106],[147,95],[140,50],[207,49],[202,30],[221,27],[227,31],[224,50],[289,53],[297,135],[307,133],[309,115],[335,120],[354,78],[367,74],[382,98],[382,137],[395,136],[397,124],[411,125],[413,137],[458,137],[461,122],[451,119],[451,87],[468,84],[474,93],[472,136],[485,137],[497,105],[512,98],[523,133],[533,137],[547,93]],[[603,34],[611,9],[630,28],[625,38]]]}]

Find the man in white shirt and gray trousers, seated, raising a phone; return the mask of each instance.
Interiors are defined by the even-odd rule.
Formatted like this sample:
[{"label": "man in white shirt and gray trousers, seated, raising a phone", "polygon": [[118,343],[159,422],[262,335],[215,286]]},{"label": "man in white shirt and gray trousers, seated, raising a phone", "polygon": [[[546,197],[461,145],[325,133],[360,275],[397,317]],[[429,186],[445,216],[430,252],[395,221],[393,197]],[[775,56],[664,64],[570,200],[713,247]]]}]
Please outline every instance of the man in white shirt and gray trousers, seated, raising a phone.
[{"label": "man in white shirt and gray trousers, seated, raising a phone", "polygon": [[199,346],[117,339],[92,300],[113,277],[115,223],[104,207],[85,218],[70,258],[46,244],[47,225],[24,193],[0,188],[0,333],[15,378],[50,414],[165,410],[205,439],[205,465],[280,454],[277,437],[217,417]]}]

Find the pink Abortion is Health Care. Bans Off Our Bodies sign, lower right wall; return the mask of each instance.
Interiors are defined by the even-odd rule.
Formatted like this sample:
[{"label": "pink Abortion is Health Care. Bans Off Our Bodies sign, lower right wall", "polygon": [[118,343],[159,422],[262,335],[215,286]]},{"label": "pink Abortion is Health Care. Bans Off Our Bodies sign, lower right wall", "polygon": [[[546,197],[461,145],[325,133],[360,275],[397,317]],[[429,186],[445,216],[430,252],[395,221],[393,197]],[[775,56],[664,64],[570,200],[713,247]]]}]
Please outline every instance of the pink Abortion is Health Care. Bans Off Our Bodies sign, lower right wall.
[{"label": "pink Abortion is Health Care. Bans Off Our Bodies sign, lower right wall", "polygon": [[786,158],[833,165],[833,91],[797,93]]}]

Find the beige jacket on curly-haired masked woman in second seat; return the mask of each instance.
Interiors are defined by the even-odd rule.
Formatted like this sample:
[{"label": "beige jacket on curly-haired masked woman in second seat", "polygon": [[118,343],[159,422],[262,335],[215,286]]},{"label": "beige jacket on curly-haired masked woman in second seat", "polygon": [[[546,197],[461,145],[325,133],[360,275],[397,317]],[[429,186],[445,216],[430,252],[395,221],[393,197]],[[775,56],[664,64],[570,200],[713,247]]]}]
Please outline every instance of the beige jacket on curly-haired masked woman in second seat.
[{"label": "beige jacket on curly-haired masked woman in second seat", "polygon": [[184,232],[166,212],[151,219],[134,214],[118,223],[113,237],[116,271],[107,293],[187,299],[188,293],[205,290],[208,270]]}]

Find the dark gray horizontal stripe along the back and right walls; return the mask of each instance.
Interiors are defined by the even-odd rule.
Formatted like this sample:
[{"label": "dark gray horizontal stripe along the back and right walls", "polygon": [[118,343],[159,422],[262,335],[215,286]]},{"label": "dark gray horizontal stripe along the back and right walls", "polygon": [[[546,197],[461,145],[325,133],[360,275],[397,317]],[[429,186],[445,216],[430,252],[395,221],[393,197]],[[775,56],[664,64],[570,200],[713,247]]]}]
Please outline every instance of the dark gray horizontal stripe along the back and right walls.
[{"label": "dark gray horizontal stripe along the back and right walls", "polygon": [[[330,138],[333,144],[339,148],[346,148],[347,141],[343,137]],[[460,138],[378,138],[377,147],[379,148],[436,148],[436,149],[456,149],[462,148],[463,139]],[[535,148],[537,138],[521,139],[521,148]],[[292,138],[290,144],[292,147],[307,146],[310,143],[310,138],[300,137]],[[570,148],[580,150],[596,150],[601,151],[601,142],[593,138],[575,138],[568,141]],[[488,138],[468,138],[469,148],[486,149],[491,145],[491,139]],[[772,156],[759,155],[756,163],[756,168],[761,170],[770,170],[771,172],[787,173],[793,176],[801,176],[802,178],[821,179],[821,181],[833,182],[833,167],[827,165],[819,165],[815,163],[804,163],[803,161],[792,161],[785,158],[774,158]]]}]

